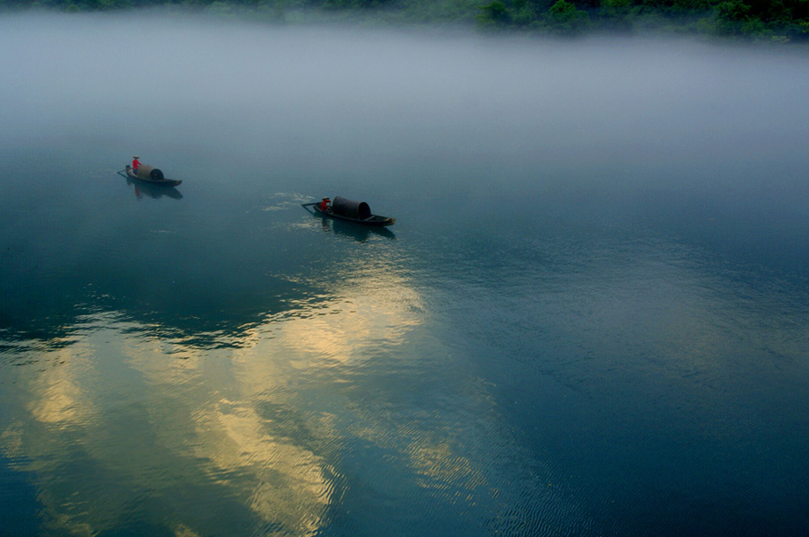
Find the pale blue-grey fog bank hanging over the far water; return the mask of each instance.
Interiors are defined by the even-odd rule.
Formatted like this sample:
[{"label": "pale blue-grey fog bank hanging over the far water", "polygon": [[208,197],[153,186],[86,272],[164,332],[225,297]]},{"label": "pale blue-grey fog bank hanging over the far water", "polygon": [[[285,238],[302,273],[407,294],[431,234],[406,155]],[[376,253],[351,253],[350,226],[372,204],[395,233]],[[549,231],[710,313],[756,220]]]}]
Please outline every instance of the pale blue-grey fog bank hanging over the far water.
[{"label": "pale blue-grey fog bank hanging over the far water", "polygon": [[134,14],[11,16],[0,31],[5,147],[136,133],[143,153],[275,165],[494,155],[591,170],[609,155],[666,174],[778,163],[806,139],[809,69],[790,53]]}]

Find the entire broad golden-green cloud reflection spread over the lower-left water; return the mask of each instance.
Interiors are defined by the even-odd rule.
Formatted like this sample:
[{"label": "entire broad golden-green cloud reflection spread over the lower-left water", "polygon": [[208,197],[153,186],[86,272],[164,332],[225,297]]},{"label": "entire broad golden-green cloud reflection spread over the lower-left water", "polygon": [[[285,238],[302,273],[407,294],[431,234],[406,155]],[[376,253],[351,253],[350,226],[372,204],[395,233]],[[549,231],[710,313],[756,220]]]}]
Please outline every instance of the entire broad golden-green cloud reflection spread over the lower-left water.
[{"label": "entire broad golden-green cloud reflection spread over the lower-left water", "polygon": [[[421,322],[402,279],[368,279],[253,323],[237,346],[192,348],[100,316],[72,345],[36,351],[49,366],[3,372],[20,381],[19,419],[0,430],[0,450],[31,475],[57,533],[115,532],[132,516],[183,536],[316,533],[340,419],[316,372],[401,345]],[[219,522],[211,497],[232,511]]]}]

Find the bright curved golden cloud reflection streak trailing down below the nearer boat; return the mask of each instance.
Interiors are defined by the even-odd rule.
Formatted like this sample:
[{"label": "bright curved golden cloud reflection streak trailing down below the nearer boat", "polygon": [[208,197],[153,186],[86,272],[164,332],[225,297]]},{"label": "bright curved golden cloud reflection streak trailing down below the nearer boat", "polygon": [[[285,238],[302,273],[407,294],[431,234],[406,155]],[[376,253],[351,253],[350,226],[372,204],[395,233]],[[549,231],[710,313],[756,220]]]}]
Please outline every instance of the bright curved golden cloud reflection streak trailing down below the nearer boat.
[{"label": "bright curved golden cloud reflection streak trailing down below the nearer boat", "polygon": [[333,493],[324,454],[303,446],[322,447],[337,435],[328,405],[311,402],[331,388],[316,386],[305,400],[301,372],[367,359],[380,345],[403,343],[420,322],[419,297],[403,281],[387,276],[381,294],[377,285],[348,286],[249,330],[231,351],[231,389],[194,416],[204,438],[196,456],[218,476],[252,474],[251,508],[295,533],[317,530]]}]

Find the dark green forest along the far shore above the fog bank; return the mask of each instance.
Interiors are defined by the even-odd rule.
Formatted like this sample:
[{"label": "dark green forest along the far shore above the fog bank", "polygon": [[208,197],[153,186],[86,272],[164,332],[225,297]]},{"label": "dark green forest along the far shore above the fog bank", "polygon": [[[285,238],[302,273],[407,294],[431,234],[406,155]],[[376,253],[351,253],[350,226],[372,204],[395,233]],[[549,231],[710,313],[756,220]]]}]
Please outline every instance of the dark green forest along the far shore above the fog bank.
[{"label": "dark green forest along the far shore above the fog bank", "polygon": [[651,31],[809,41],[809,0],[0,0],[4,11],[155,6],[288,23],[351,17],[382,23],[474,23],[485,31],[564,36]]}]

